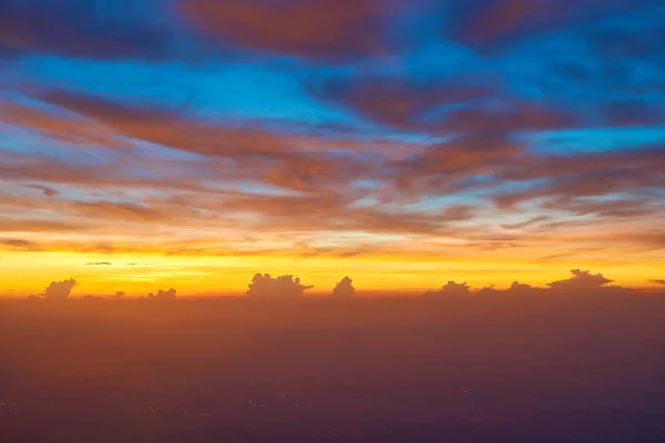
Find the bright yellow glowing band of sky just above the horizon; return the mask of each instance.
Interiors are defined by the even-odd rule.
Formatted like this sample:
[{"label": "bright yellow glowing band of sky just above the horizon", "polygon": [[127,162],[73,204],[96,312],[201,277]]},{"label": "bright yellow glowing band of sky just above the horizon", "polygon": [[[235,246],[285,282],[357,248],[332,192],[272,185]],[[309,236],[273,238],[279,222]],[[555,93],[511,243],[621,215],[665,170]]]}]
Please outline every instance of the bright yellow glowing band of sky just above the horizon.
[{"label": "bright yellow glowing band of sky just above the horizon", "polygon": [[[473,288],[510,286],[514,280],[544,286],[567,278],[572,267],[603,272],[616,285],[654,287],[648,280],[664,264],[534,262],[485,257],[485,260],[439,261],[430,256],[397,257],[289,257],[278,256],[164,256],[157,254],[4,253],[6,277],[0,295],[39,293],[53,280],[74,278],[73,296],[110,296],[116,291],[144,296],[175,288],[186,295],[242,293],[256,272],[295,275],[314,291],[329,292],[344,276],[350,276],[359,291],[419,291],[439,288],[449,280],[468,281]],[[110,264],[110,265],[108,265]]]}]

